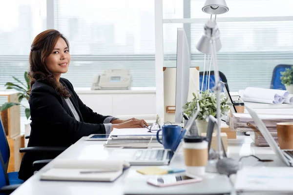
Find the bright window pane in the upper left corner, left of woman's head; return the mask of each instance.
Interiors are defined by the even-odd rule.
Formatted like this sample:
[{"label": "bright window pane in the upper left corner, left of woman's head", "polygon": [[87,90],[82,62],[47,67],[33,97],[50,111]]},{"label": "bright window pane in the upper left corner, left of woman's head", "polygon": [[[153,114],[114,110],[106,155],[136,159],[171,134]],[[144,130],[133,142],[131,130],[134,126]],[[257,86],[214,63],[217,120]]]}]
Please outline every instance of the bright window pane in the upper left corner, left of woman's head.
[{"label": "bright window pane in the upper left corner, left of woman's head", "polygon": [[29,55],[33,39],[46,28],[46,1],[1,1],[0,18],[0,55]]}]

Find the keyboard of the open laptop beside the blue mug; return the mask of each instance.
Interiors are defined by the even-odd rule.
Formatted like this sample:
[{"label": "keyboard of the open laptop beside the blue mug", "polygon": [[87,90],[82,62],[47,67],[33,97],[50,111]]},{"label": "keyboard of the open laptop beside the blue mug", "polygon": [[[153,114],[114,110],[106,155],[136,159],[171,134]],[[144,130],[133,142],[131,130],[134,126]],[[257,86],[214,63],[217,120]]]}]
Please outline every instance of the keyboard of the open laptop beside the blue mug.
[{"label": "keyboard of the open laptop beside the blue mug", "polygon": [[163,160],[165,150],[137,150],[134,154],[135,160],[157,161]]}]

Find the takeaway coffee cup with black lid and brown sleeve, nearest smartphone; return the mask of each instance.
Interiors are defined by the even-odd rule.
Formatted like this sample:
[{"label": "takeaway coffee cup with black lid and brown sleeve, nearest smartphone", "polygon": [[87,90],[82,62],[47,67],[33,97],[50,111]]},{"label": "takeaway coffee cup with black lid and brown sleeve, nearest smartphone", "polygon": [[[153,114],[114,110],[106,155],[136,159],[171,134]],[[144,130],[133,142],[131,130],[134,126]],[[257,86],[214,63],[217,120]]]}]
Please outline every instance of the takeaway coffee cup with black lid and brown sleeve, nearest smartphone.
[{"label": "takeaway coffee cup with black lid and brown sleeve, nearest smartphone", "polygon": [[205,175],[209,158],[207,137],[185,136],[183,146],[186,174]]}]

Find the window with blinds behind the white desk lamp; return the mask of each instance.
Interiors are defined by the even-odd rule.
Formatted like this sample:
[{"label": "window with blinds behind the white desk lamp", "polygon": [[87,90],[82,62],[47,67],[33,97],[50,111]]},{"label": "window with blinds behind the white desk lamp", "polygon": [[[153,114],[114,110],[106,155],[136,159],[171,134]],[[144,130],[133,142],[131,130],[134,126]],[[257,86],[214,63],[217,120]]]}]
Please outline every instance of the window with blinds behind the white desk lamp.
[{"label": "window with blinds behind the white desk lamp", "polygon": [[[163,1],[164,2],[164,1]],[[218,15],[217,24],[221,33],[222,48],[218,52],[219,70],[228,79],[231,91],[246,87],[270,88],[273,68],[278,64],[293,62],[293,2],[291,0],[227,0],[229,12]],[[177,2],[178,3],[178,2]],[[180,2],[182,5],[184,1]],[[201,9],[205,0],[190,1],[191,65],[204,68],[204,54],[196,44],[204,31],[204,21],[210,15]],[[163,4],[164,19],[182,19],[174,3]],[[182,6],[183,7],[183,6]],[[261,11],[260,11],[261,10]],[[185,10],[186,11],[186,10]],[[165,13],[165,14],[164,14]],[[168,16],[166,13],[169,13]],[[205,20],[206,19],[206,20]],[[176,66],[176,29],[182,23],[165,23],[165,31],[173,35],[164,36],[165,66]],[[172,58],[171,58],[172,57]],[[212,66],[213,69],[213,66]]]}]

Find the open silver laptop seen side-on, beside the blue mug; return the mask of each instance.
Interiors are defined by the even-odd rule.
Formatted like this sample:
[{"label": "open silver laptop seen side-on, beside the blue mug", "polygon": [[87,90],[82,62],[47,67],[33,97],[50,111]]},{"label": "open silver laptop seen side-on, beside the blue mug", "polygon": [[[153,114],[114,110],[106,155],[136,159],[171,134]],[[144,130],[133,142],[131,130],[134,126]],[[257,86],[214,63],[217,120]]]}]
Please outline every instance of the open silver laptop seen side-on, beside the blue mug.
[{"label": "open silver laptop seen side-on, beside the blue mug", "polygon": [[[197,117],[200,111],[199,103],[197,103],[197,110],[194,115],[188,119],[188,123],[181,130],[181,134],[177,140],[173,143],[171,149],[116,149],[114,150],[110,158],[124,159],[130,163],[130,165],[168,165],[173,156],[179,151],[182,138],[188,134],[193,121]],[[154,137],[156,138],[156,137]]]}]

